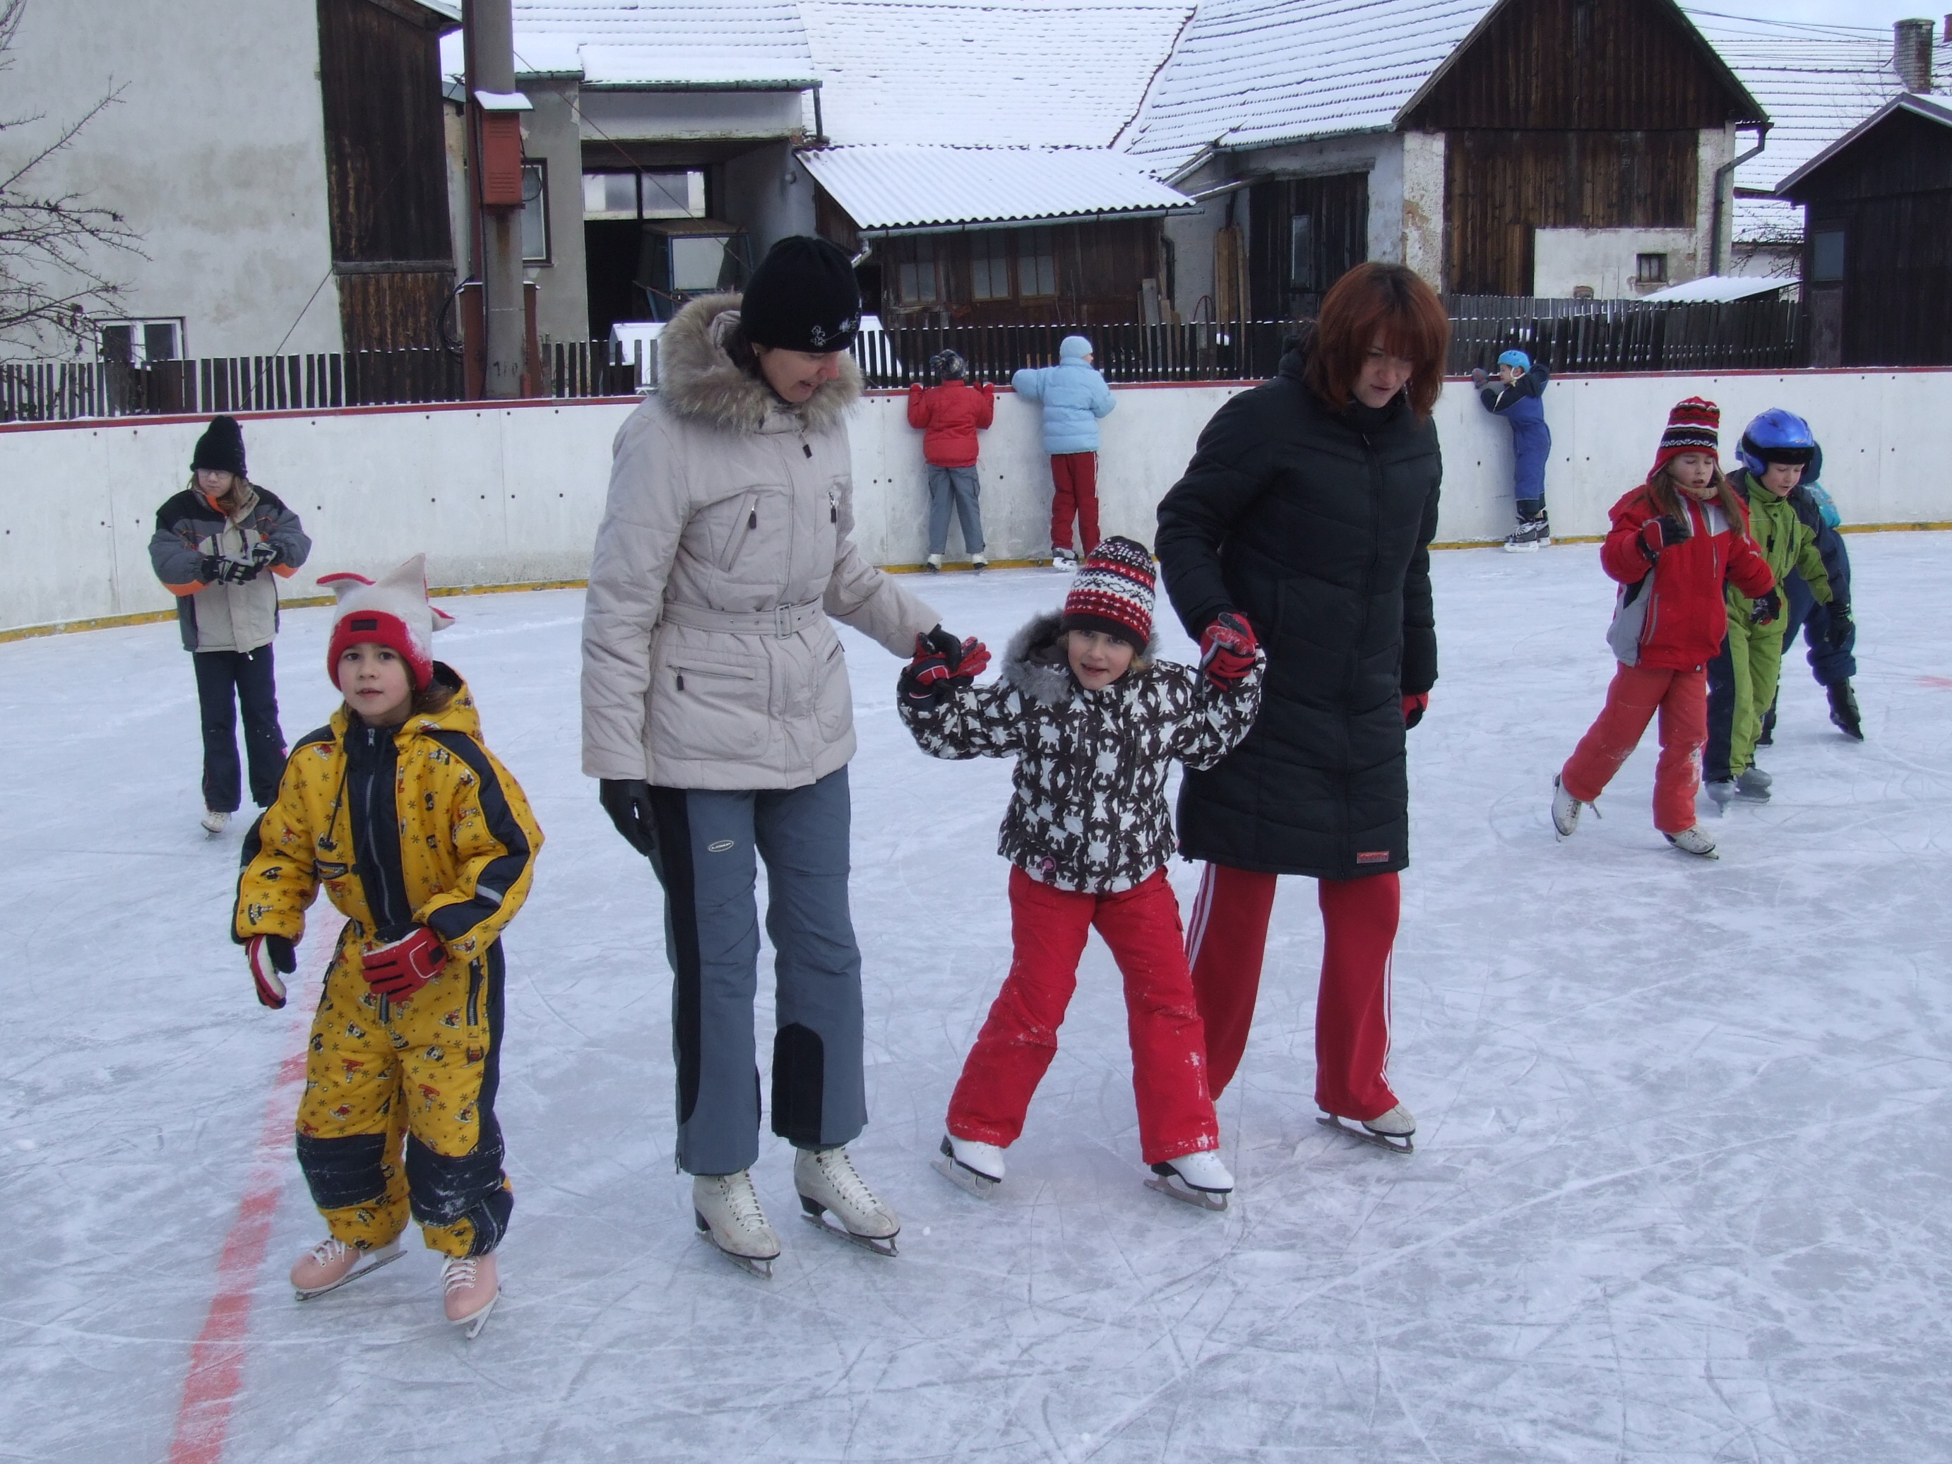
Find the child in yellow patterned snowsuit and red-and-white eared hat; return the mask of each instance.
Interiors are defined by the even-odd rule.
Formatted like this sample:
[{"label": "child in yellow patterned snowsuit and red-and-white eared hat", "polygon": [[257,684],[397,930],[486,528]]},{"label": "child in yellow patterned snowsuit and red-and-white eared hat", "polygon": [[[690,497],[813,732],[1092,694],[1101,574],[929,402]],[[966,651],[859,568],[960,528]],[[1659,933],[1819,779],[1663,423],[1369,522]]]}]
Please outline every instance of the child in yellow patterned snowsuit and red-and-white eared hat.
[{"label": "child in yellow patterned snowsuit and red-and-white eared hat", "polygon": [[347,919],[299,1101],[299,1165],[330,1236],[291,1282],[306,1300],[375,1271],[412,1214],[449,1257],[447,1318],[472,1337],[513,1202],[494,1117],[500,935],[543,832],[482,746],[467,685],[431,658],[449,617],[427,603],[426,560],[320,584],[340,599],[326,666],[346,705],[293,746],[244,841],[232,925],[258,999],[281,1007],[320,884]]}]

